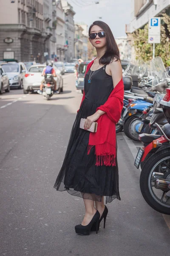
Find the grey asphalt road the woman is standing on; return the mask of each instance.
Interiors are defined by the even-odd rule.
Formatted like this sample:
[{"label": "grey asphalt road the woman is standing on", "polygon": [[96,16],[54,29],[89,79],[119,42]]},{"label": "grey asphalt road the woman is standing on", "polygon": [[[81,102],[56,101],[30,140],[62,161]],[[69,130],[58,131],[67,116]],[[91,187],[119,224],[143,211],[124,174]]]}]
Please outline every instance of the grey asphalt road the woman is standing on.
[{"label": "grey asphalt road the woman is standing on", "polygon": [[50,101],[22,90],[0,95],[0,255],[169,255],[168,221],[142,198],[133,165],[139,143],[124,133],[117,136],[122,200],[107,205],[105,229],[76,235],[82,198],[53,188],[82,97],[74,84],[74,74],[65,75],[64,93]]}]

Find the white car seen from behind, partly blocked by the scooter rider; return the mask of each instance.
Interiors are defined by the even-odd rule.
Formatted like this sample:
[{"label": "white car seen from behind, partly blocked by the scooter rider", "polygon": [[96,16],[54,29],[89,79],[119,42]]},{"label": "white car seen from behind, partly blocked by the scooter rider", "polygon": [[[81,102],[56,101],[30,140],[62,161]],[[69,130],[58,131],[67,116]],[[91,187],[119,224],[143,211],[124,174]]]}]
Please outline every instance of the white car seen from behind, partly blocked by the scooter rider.
[{"label": "white car seen from behind, partly blocked by the scooter rider", "polygon": [[[46,65],[32,65],[28,69],[28,72],[25,74],[23,79],[24,94],[33,92],[34,90],[40,90],[41,82],[44,79],[44,77],[41,76],[41,73],[45,67]],[[61,79],[60,71],[55,66],[53,66],[53,68],[56,72],[56,77],[54,77],[54,79],[57,81],[56,90],[58,90],[59,93],[63,92],[63,81]]]}]

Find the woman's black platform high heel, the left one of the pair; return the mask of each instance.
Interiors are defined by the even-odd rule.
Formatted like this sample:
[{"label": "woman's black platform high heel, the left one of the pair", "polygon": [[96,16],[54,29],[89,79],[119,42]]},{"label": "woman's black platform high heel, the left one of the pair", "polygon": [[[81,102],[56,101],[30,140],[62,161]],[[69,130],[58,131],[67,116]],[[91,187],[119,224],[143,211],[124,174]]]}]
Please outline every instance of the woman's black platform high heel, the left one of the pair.
[{"label": "woman's black platform high heel, the left one of the pair", "polygon": [[75,226],[75,231],[77,234],[82,235],[82,236],[88,236],[91,232],[91,227],[96,224],[96,234],[97,234],[97,227],[99,226],[99,218],[100,214],[98,211],[96,211],[94,217],[92,218],[91,222],[87,226],[82,226],[82,224],[79,224]]}]

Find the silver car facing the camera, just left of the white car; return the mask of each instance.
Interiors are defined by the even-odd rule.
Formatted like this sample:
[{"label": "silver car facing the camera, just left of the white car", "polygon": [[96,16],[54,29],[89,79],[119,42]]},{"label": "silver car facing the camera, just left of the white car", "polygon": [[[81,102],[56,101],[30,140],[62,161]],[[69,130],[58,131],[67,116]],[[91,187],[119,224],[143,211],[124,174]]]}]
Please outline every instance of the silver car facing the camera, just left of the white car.
[{"label": "silver car facing the camera, just left of the white car", "polygon": [[23,62],[12,62],[2,65],[5,70],[10,87],[23,89],[23,78],[27,72],[26,66]]}]

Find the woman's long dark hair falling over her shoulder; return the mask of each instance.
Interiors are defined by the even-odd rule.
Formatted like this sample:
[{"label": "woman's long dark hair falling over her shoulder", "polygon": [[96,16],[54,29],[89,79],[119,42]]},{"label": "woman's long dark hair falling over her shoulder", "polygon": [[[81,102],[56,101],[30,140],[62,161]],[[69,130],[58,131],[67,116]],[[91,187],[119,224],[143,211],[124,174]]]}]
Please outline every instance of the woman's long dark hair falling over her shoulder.
[{"label": "woman's long dark hair falling over her shoulder", "polygon": [[120,61],[119,48],[116,44],[113,33],[111,32],[111,29],[108,26],[108,24],[106,24],[105,22],[103,22],[101,20],[94,21],[94,23],[91,24],[91,26],[88,30],[89,35],[91,32],[91,28],[94,25],[101,27],[106,32],[107,49],[106,49],[105,54],[99,59],[99,64],[109,64],[111,61],[113,61],[113,59],[115,59],[116,61],[118,61],[118,60]]}]

